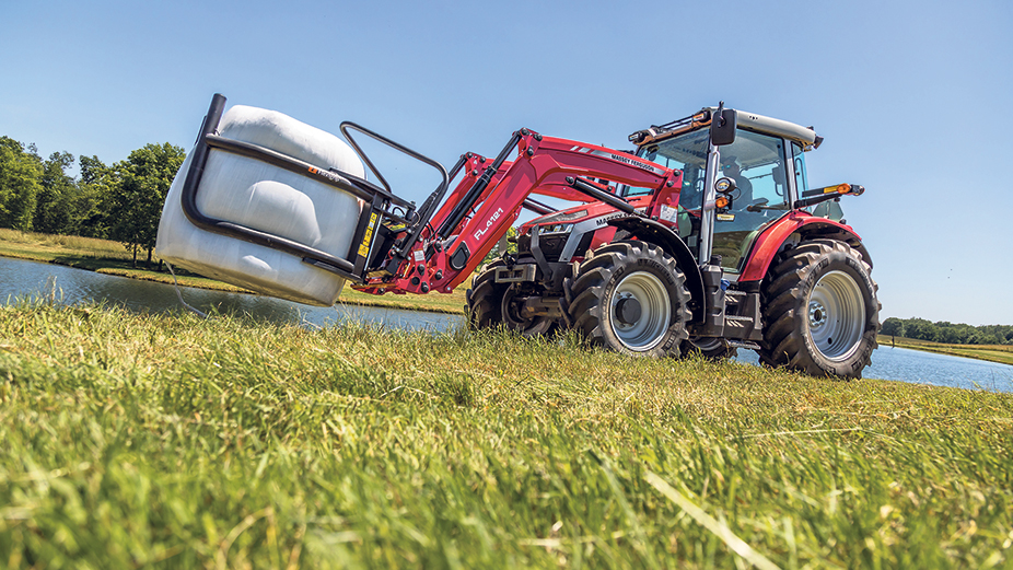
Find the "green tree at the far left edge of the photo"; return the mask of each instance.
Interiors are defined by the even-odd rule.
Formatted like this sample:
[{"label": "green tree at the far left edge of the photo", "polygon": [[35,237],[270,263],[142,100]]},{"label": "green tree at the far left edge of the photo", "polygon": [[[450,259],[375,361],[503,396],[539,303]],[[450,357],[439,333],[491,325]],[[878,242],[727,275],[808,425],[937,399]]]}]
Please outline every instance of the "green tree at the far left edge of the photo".
[{"label": "green tree at the far left edge of the photo", "polygon": [[0,228],[28,231],[35,217],[35,200],[42,164],[34,147],[0,137]]}]

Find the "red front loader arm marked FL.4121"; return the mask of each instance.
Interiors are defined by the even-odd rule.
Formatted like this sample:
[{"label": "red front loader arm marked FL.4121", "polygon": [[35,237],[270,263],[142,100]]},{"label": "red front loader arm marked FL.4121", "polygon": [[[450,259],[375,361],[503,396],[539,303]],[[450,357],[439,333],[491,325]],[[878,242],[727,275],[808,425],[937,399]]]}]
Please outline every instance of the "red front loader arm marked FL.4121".
[{"label": "red front loader arm marked FL.4121", "polygon": [[[512,162],[506,158],[516,152]],[[488,165],[487,165],[488,164]],[[466,170],[465,170],[466,168]],[[631,154],[522,129],[489,162],[477,154],[462,156],[452,176],[464,172],[396,268],[373,271],[357,290],[383,293],[449,293],[463,283],[513,225],[532,194],[572,201],[605,200],[633,212],[622,198],[593,183],[607,179],[652,188],[647,214],[662,201],[676,202],[682,173]],[[392,270],[393,269],[393,270]]]}]

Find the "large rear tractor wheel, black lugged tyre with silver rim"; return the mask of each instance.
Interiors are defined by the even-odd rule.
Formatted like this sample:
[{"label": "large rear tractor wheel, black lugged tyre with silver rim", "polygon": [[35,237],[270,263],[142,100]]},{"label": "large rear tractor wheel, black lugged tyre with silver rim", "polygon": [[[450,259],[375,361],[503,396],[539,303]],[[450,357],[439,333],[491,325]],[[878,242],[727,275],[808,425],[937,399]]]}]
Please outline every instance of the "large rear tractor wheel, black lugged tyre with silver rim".
[{"label": "large rear tractor wheel, black lugged tyre with silver rim", "polygon": [[783,254],[764,280],[760,362],[862,377],[880,330],[871,271],[861,254],[837,240],[803,242]]}]

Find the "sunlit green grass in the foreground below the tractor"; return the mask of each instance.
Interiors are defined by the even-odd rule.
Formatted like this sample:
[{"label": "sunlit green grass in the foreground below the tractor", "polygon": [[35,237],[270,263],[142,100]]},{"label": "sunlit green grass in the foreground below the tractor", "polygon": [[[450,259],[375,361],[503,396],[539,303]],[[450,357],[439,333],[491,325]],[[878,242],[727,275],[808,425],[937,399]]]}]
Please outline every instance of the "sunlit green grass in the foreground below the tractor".
[{"label": "sunlit green grass in the foreground below the tractor", "polygon": [[7,568],[1013,566],[1013,395],[0,307]]}]

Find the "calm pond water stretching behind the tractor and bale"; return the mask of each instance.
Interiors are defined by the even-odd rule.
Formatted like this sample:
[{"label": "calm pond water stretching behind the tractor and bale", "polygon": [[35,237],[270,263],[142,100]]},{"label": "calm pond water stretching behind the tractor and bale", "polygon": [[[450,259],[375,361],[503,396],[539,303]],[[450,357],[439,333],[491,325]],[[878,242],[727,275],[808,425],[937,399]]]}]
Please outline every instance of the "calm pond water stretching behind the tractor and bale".
[{"label": "calm pond water stretching behind the tractor and bale", "polygon": [[[173,286],[83,271],[53,264],[0,257],[0,302],[19,296],[48,296],[56,291],[66,304],[106,301],[132,311],[182,311]],[[272,323],[310,323],[327,326],[345,319],[382,324],[411,330],[447,330],[463,324],[461,315],[365,306],[317,307],[279,299],[241,293],[179,289],[190,305],[201,311],[248,313]],[[757,363],[756,353],[741,350],[738,361]],[[863,375],[938,386],[1013,392],[1013,367],[981,360],[934,354],[903,348],[880,347]]]}]

